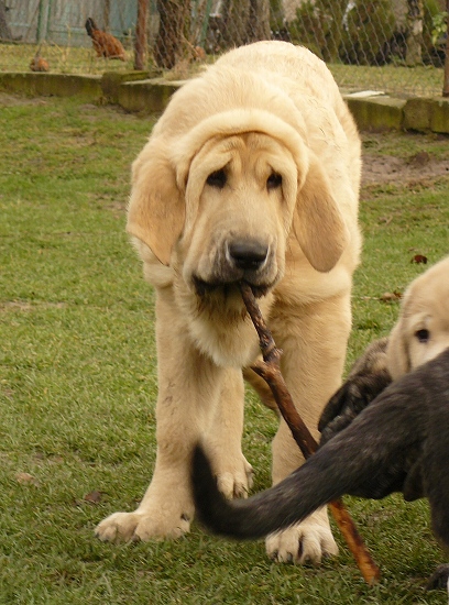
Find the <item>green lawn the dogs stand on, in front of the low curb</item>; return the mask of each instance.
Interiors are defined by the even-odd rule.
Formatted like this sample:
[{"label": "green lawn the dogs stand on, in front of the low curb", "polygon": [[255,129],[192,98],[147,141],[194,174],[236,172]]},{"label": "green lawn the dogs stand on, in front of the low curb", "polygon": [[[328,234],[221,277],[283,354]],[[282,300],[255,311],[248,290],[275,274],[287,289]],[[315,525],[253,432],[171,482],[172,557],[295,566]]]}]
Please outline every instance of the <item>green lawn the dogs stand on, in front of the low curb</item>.
[{"label": "green lawn the dogs stand on, in front of the low curb", "polygon": [[[348,499],[382,569],[375,587],[338,530],[340,556],[318,568],[274,564],[263,543],[196,526],[176,542],[94,537],[105,516],[135,507],[154,463],[153,295],[123,232],[130,163],[153,122],[73,100],[0,101],[0,603],[446,603],[423,588],[443,561],[427,503],[399,496]],[[430,135],[365,138],[366,153],[449,158],[448,147]],[[379,297],[424,271],[410,257],[449,252],[448,186],[364,189],[349,360],[390,330],[398,307]],[[248,399],[244,451],[261,490],[275,421]],[[85,498],[94,491],[97,504]]]}]

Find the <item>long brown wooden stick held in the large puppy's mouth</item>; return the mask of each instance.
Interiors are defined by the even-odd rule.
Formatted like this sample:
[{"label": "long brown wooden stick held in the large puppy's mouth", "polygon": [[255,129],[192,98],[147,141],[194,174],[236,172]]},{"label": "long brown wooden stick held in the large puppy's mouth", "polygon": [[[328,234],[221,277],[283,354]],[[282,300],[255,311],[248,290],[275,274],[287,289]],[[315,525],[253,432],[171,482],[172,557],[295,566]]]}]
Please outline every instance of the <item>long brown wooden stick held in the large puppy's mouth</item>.
[{"label": "long brown wooden stick held in the large puppy's mouth", "polygon": [[[273,336],[265,324],[251,286],[244,282],[241,282],[239,287],[247,310],[252,322],[254,323],[255,330],[258,331],[259,343],[263,356],[263,362],[256,362],[252,366],[252,370],[254,370],[254,372],[259,374],[270,386],[284,420],[288,425],[304,458],[307,459],[318,449],[318,443],[315,441],[310,431],[297,413],[292,396],[288,393],[287,385],[285,384],[284,377],[281,373],[280,361],[282,351],[277,349],[273,340]],[[344,508],[342,501],[338,499],[331,502],[329,504],[329,508],[355,559],[363,579],[368,584],[374,584],[380,579],[380,570],[363,543],[363,540],[348,510]]]}]

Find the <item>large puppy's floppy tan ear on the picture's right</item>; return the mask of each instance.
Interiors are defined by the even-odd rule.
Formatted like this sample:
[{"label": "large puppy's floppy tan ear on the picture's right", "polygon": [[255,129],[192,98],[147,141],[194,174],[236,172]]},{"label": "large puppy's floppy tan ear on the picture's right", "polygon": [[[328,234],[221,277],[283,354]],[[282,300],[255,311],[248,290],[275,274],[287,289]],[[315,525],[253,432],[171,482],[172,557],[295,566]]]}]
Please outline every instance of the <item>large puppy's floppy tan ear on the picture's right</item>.
[{"label": "large puppy's floppy tan ear on the picture's right", "polygon": [[293,229],[308,262],[320,272],[337,264],[350,234],[318,160],[310,154],[309,169],[298,190]]}]

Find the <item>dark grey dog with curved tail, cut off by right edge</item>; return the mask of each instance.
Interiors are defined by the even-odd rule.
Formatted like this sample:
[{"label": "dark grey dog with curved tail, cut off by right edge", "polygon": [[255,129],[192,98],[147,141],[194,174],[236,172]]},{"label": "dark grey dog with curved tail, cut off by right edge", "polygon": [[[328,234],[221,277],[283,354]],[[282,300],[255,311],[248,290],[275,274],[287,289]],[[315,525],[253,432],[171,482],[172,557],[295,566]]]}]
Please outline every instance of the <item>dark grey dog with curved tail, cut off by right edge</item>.
[{"label": "dark grey dog with curved tail, cut off by right edge", "polygon": [[[374,392],[387,382],[384,376]],[[449,547],[449,349],[386,386],[303,466],[265,492],[227,501],[200,446],[191,473],[197,515],[215,534],[262,538],[344,494],[377,499],[402,492],[406,501],[428,498],[434,532]],[[446,586],[448,578],[449,564],[441,565],[428,587]]]}]

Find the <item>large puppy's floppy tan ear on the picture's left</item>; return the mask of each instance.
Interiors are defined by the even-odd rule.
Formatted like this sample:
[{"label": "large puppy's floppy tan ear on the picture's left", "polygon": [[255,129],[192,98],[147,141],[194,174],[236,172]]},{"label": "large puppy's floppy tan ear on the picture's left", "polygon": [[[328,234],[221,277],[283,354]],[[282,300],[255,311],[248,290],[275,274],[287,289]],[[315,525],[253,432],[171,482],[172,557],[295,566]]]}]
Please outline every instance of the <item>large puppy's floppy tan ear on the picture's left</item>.
[{"label": "large puppy's floppy tan ear on the picture's left", "polygon": [[127,231],[144,242],[164,265],[185,219],[184,196],[169,162],[144,150],[133,165]]}]

